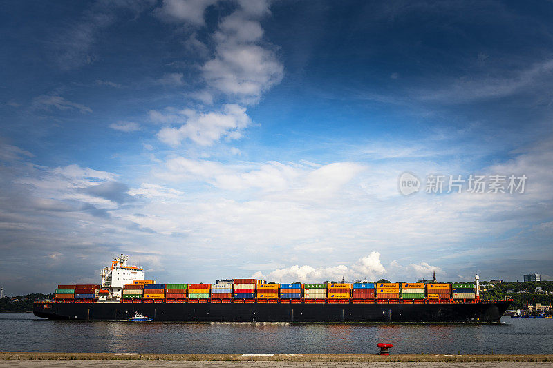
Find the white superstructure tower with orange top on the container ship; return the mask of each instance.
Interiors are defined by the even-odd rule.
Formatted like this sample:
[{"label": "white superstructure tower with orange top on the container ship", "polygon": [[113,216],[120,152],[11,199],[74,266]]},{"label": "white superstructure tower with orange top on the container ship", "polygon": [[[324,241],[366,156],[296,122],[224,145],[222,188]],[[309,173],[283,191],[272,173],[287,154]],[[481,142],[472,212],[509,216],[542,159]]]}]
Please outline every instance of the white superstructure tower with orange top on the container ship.
[{"label": "white superstructure tower with orange top on the container ship", "polygon": [[111,267],[102,269],[102,289],[109,290],[109,296],[102,296],[99,302],[115,302],[121,298],[123,285],[132,284],[135,280],[144,280],[144,269],[129,266],[128,255],[120,255],[111,261]]}]

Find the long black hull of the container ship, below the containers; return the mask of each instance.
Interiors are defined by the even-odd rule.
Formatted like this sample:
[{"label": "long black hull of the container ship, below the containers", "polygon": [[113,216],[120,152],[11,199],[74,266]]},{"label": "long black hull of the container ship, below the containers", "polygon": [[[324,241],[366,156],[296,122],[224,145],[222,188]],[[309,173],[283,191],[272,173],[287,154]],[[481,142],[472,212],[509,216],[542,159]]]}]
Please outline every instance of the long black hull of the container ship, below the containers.
[{"label": "long black hull of the container ship, below the containers", "polygon": [[497,323],[510,301],[453,304],[35,303],[35,316],[59,320],[182,322]]}]

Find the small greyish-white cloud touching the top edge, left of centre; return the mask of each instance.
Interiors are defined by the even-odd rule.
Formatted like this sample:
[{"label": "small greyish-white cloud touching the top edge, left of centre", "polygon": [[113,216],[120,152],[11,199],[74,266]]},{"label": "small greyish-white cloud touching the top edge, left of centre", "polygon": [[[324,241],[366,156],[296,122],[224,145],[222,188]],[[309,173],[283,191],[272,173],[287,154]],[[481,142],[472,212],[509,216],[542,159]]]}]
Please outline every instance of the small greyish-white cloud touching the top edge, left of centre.
[{"label": "small greyish-white cloud touching the top edge, left of centre", "polygon": [[189,23],[192,26],[205,24],[204,13],[217,0],[163,0],[161,8],[154,14],[168,23]]}]

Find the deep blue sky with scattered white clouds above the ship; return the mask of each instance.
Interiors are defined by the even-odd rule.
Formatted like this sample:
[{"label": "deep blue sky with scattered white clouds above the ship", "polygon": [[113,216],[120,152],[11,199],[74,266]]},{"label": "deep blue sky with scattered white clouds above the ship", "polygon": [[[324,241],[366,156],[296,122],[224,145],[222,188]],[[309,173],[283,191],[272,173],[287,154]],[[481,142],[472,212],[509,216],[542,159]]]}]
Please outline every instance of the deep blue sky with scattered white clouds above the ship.
[{"label": "deep blue sky with scattered white clouds above the ship", "polygon": [[8,293],[118,253],[163,282],[553,276],[551,3],[0,7]]}]

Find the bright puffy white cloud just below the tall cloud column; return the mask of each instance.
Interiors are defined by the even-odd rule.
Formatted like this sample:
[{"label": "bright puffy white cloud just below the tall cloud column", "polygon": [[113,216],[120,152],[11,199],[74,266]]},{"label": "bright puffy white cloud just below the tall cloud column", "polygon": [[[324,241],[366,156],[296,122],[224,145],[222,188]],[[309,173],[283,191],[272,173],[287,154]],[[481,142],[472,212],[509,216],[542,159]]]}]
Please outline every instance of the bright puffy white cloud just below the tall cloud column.
[{"label": "bright puffy white cloud just below the tall cloud column", "polygon": [[187,110],[180,115],[164,116],[152,111],[150,116],[167,122],[176,122],[180,118],[185,123],[179,128],[162,128],[158,133],[161,142],[178,146],[182,140],[190,139],[200,146],[210,146],[222,137],[241,137],[241,131],[252,123],[245,111],[241,106],[227,104],[221,113],[196,113]]}]

